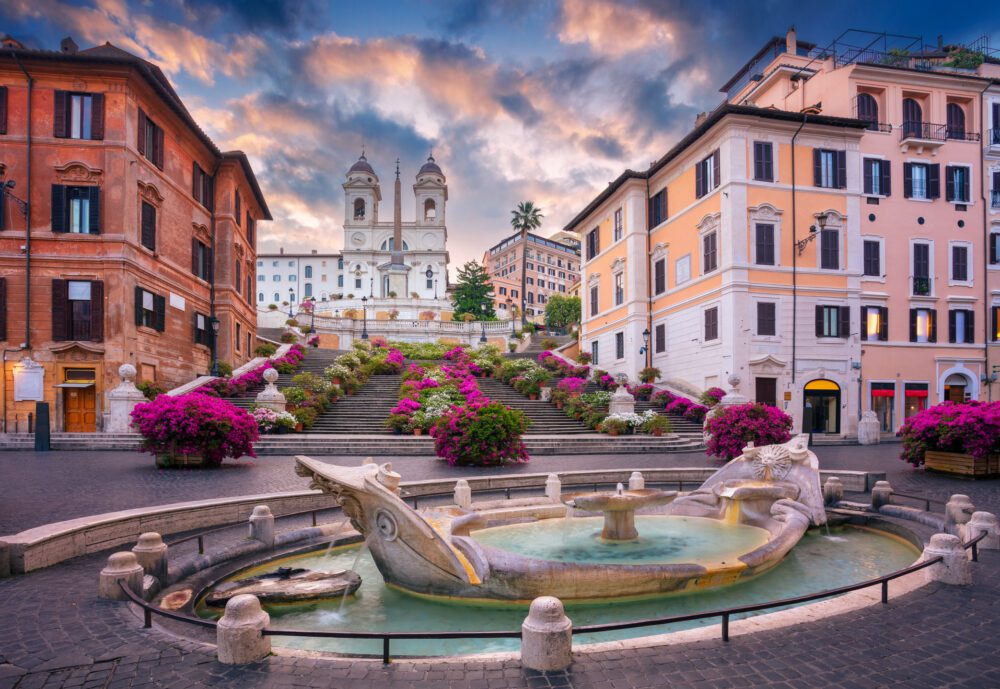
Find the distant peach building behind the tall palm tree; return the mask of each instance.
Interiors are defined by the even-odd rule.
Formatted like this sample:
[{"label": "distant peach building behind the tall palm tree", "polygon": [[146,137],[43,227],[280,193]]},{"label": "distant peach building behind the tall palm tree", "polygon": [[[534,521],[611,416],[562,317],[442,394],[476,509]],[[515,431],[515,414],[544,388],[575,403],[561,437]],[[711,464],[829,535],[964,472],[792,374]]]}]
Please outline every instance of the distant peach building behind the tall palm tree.
[{"label": "distant peach building behind the tall palm tree", "polygon": [[490,247],[483,254],[483,267],[493,282],[497,316],[519,317],[523,308],[527,320],[543,323],[548,300],[567,296],[580,280],[580,240],[564,232],[548,239],[529,232],[527,238],[527,247],[520,232]]}]

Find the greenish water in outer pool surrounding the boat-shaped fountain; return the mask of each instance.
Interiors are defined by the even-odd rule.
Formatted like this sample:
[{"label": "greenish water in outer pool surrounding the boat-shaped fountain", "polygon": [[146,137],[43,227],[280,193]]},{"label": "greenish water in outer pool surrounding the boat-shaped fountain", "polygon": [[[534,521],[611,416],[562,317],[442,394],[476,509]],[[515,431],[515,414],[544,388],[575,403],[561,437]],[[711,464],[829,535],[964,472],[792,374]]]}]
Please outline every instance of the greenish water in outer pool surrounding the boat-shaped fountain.
[{"label": "greenish water in outer pool surrounding the boat-shaped fountain", "polygon": [[[584,521],[584,520],[581,520]],[[590,527],[592,530],[599,527]],[[640,526],[640,532],[642,527]],[[745,583],[692,593],[613,603],[569,603],[567,614],[576,625],[680,615],[736,605],[760,603],[779,598],[813,593],[871,579],[912,564],[919,552],[910,544],[884,533],[841,527],[831,529],[838,540],[831,540],[819,530],[807,533],[788,556],[770,572]],[[279,566],[307,567],[316,570],[350,568],[358,555],[358,546],[335,549],[325,557],[326,548],[313,553],[274,561],[239,573],[243,578],[274,571]],[[387,587],[375,563],[365,551],[356,567],[362,584],[349,597],[343,610],[340,601],[309,605],[273,605],[272,626],[298,629],[354,631],[446,631],[520,629],[527,606],[427,599]],[[199,608],[205,617],[218,617],[220,611]],[[718,618],[617,632],[575,636],[574,643],[595,643],[651,634],[662,634],[718,624]],[[272,637],[275,646],[321,650],[346,654],[381,653],[378,640],[310,639]],[[402,655],[454,655],[491,651],[516,651],[517,639],[430,639],[393,641],[392,653]]]}]

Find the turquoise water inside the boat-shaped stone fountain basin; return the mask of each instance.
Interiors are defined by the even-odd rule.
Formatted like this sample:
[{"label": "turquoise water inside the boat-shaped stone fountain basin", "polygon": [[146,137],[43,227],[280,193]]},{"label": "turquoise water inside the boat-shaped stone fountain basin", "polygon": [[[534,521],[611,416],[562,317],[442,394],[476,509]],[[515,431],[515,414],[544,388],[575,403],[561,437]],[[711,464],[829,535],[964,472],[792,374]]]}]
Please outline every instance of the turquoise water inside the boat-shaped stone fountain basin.
[{"label": "turquoise water inside the boat-shaped stone fountain basin", "polygon": [[693,562],[706,567],[732,564],[768,539],[767,531],[756,526],[704,517],[637,515],[639,538],[611,541],[601,538],[603,524],[603,517],[543,519],[473,531],[472,537],[491,548],[555,562]]}]

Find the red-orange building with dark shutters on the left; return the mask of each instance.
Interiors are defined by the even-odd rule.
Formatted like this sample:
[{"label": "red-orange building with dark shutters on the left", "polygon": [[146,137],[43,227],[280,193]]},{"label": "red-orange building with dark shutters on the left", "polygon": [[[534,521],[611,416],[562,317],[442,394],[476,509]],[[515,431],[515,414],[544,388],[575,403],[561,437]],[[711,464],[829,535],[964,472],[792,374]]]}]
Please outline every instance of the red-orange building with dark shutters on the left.
[{"label": "red-orange building with dark shutters on the left", "polygon": [[[222,152],[153,64],[110,44],[0,53],[3,417],[102,426],[118,367],[165,388],[253,356],[257,223],[246,156]],[[13,185],[13,186],[11,186]]]}]

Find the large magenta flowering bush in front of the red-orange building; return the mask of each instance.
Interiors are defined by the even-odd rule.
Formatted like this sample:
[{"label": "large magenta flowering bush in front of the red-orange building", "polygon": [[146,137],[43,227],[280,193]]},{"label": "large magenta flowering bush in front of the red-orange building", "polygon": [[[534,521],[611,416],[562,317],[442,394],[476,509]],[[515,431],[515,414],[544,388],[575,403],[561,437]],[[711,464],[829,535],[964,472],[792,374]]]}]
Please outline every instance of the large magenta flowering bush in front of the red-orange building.
[{"label": "large magenta flowering bush in front of the red-orange building", "polygon": [[209,395],[160,395],[136,405],[132,425],[142,450],[154,455],[202,455],[218,466],[226,457],[255,457],[257,421],[247,411]]}]

